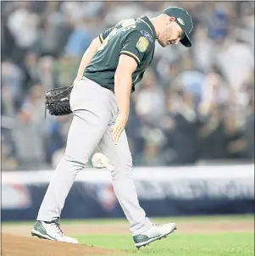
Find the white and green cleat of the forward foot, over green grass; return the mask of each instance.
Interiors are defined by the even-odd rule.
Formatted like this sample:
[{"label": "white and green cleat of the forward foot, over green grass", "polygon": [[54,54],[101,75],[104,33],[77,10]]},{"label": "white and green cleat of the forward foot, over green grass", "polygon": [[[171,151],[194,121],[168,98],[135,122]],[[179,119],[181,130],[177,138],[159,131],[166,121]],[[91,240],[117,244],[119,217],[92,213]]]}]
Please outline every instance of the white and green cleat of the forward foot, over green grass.
[{"label": "white and green cleat of the forward foot, over green grass", "polygon": [[169,234],[176,230],[175,223],[168,223],[164,225],[153,224],[147,231],[133,237],[136,248],[147,246],[151,242],[160,240],[161,238],[167,237]]}]

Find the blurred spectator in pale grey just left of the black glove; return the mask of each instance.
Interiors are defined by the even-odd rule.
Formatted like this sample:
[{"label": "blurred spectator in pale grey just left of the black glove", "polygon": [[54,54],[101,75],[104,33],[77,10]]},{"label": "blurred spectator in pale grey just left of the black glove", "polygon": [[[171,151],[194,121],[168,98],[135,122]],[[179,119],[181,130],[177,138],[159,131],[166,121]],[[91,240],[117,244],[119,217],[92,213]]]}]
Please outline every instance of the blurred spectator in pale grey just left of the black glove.
[{"label": "blurred spectator in pale grey just left of the black glove", "polygon": [[26,97],[14,123],[13,137],[19,168],[45,164],[44,103],[42,86],[35,85]]}]

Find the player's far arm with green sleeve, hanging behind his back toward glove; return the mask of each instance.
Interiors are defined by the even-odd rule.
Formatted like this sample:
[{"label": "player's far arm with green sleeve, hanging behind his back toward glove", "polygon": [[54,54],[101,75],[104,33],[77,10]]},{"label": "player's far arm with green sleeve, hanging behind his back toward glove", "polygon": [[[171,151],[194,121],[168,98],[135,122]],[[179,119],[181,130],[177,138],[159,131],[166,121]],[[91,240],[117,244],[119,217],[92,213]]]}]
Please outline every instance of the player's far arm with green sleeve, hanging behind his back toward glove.
[{"label": "player's far arm with green sleeve, hanging behind his back toward glove", "polygon": [[83,54],[81,61],[80,61],[80,67],[77,73],[77,76],[75,78],[75,81],[80,81],[83,72],[88,66],[88,64],[91,63],[91,59],[94,57],[95,53],[97,53],[98,47],[100,47],[105,40],[105,38],[108,36],[108,34],[114,29],[114,27],[108,29],[107,31],[104,31],[102,34],[100,34],[98,37],[96,37],[92,42],[90,47],[86,49],[86,52]]}]

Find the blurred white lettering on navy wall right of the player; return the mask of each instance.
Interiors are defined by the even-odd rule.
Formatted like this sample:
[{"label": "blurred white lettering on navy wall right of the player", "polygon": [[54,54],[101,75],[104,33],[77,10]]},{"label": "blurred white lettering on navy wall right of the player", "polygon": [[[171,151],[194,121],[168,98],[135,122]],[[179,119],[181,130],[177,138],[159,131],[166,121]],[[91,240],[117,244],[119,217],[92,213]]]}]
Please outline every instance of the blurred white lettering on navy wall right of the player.
[{"label": "blurred white lettering on navy wall right of the player", "polygon": [[252,181],[136,181],[136,191],[140,199],[253,199]]}]

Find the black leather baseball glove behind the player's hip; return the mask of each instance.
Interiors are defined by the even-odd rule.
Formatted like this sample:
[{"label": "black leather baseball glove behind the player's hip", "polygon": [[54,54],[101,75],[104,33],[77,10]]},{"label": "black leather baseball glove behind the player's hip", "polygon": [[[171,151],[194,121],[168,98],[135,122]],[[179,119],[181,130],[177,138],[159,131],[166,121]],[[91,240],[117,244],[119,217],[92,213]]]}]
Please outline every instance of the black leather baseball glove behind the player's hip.
[{"label": "black leather baseball glove behind the player's hip", "polygon": [[45,106],[49,114],[66,115],[72,113],[69,98],[73,87],[74,86],[63,86],[46,92]]}]

